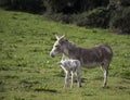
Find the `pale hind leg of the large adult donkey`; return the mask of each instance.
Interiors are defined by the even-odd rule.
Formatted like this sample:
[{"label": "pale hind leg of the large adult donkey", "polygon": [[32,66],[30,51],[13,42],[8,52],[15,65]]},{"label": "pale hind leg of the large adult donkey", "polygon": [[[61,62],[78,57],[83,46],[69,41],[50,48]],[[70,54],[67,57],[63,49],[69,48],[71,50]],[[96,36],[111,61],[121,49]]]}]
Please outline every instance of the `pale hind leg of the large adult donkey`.
[{"label": "pale hind leg of the large adult donkey", "polygon": [[106,84],[107,84],[108,66],[109,66],[108,64],[102,65],[102,71],[104,73],[104,83],[102,87],[106,87]]}]

